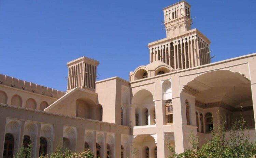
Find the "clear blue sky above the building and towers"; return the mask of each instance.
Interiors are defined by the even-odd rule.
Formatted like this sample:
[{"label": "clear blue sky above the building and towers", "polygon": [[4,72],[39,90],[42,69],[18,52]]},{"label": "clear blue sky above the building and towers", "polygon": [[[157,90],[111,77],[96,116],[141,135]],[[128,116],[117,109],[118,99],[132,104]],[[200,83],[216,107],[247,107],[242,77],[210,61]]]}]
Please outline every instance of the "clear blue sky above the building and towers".
[{"label": "clear blue sky above the building and towers", "polygon": [[[149,42],[166,37],[162,8],[178,0],[0,0],[0,73],[66,90],[67,62],[100,62],[100,80],[149,63]],[[192,28],[212,62],[256,52],[255,0],[188,0]],[[132,58],[130,58],[132,56]]]}]

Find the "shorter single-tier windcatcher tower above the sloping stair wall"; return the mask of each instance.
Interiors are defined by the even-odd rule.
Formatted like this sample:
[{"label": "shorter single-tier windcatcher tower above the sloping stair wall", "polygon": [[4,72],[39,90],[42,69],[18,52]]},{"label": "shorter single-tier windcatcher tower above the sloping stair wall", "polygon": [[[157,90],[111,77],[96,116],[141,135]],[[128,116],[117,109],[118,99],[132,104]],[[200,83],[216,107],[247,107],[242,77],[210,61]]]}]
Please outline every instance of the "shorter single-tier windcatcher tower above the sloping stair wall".
[{"label": "shorter single-tier windcatcher tower above the sloping stair wall", "polygon": [[99,62],[87,57],[80,57],[67,63],[68,88],[70,91],[76,87],[87,88],[95,91],[97,66]]}]

